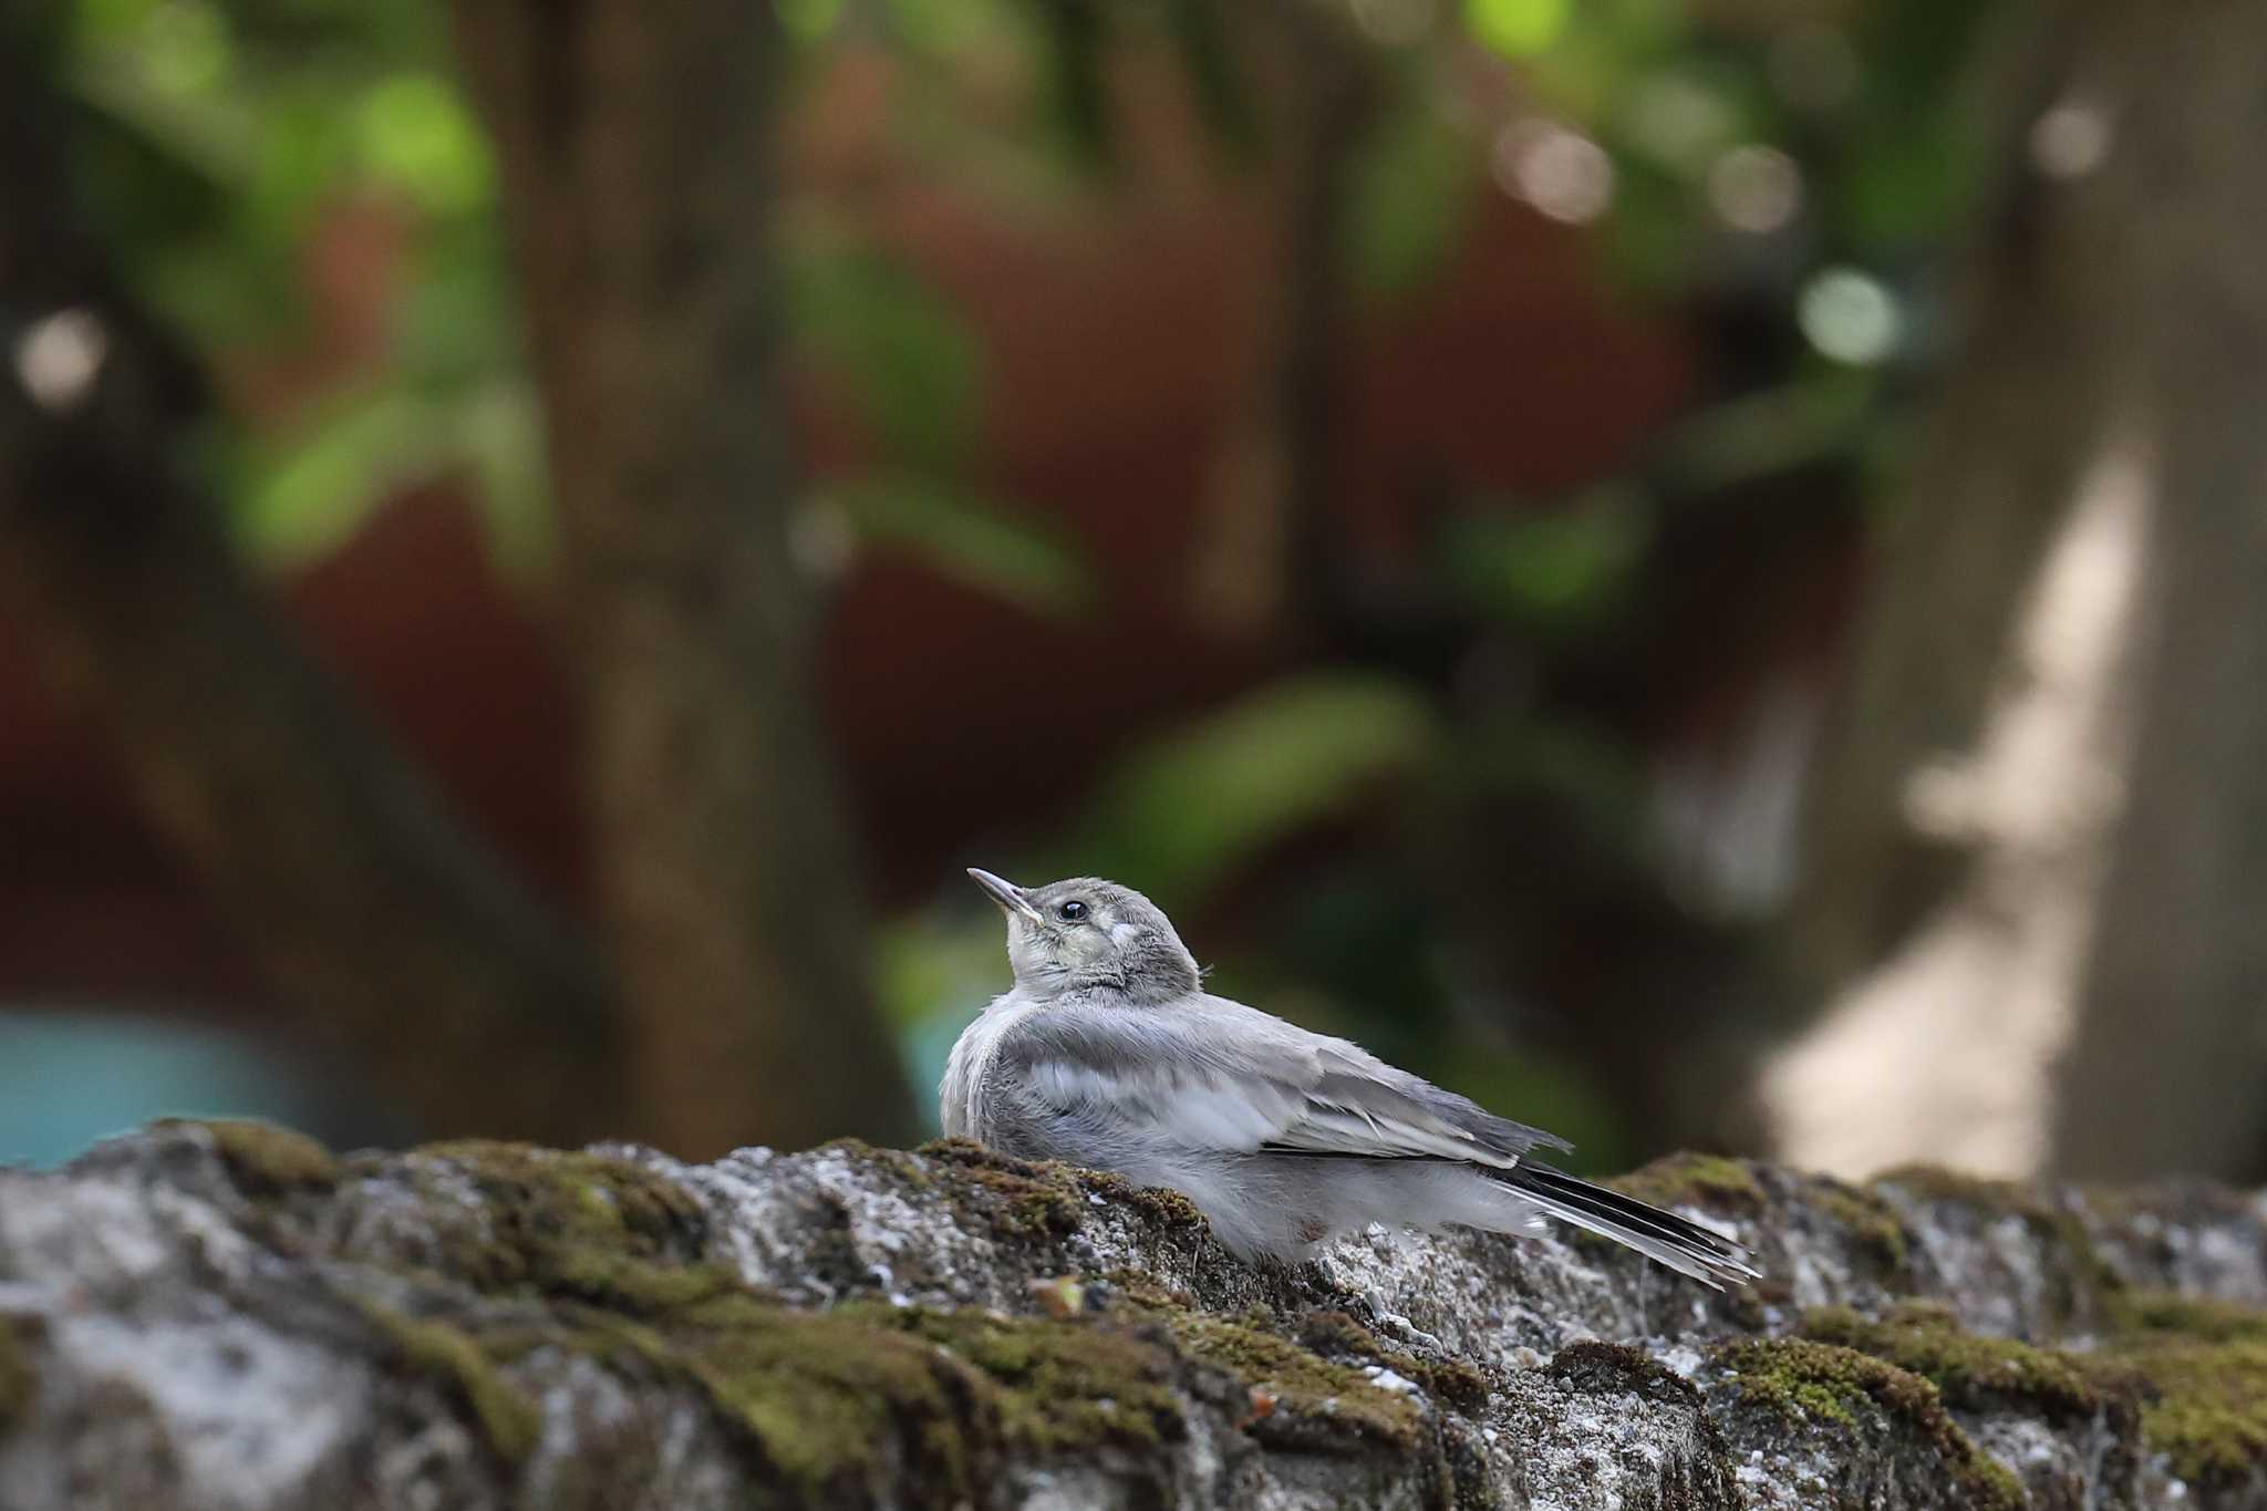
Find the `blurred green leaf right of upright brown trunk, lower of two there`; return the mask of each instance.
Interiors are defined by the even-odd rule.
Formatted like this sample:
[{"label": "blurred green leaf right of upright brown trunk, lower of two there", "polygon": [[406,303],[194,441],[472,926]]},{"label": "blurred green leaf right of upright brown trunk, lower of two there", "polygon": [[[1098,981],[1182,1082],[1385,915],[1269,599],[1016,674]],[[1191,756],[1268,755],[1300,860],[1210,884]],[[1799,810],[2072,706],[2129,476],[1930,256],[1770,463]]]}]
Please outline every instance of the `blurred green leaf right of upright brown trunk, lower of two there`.
[{"label": "blurred green leaf right of upright brown trunk, lower of two there", "polygon": [[905,550],[941,575],[1054,618],[1095,596],[1079,553],[1045,521],[1013,514],[979,494],[920,476],[837,483],[818,507],[841,512],[861,544]]}]

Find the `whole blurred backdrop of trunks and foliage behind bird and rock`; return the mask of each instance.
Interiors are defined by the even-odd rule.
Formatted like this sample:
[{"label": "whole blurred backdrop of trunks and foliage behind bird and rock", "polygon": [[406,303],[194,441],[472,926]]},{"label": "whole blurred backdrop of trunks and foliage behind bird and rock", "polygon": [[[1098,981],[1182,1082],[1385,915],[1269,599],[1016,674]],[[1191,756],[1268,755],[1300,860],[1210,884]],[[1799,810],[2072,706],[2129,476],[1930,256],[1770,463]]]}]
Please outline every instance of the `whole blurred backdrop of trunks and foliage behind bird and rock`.
[{"label": "whole blurred backdrop of trunks and foliage behind bird and rock", "polygon": [[2258,1178],[2262,54],[18,7],[0,1160],[909,1142],[986,865],[1591,1171]]}]

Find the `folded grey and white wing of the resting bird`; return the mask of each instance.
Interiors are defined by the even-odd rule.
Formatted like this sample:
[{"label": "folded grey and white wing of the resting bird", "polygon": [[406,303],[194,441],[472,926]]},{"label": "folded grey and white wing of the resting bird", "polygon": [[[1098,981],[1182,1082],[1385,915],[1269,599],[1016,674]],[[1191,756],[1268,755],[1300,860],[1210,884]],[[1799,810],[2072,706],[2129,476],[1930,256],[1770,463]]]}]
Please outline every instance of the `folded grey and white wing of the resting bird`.
[{"label": "folded grey and white wing of the resting bird", "polygon": [[1059,1112],[1122,1119],[1222,1153],[1512,1169],[1530,1149],[1566,1146],[1347,1040],[1220,997],[1170,1008],[1056,1006],[1025,1019],[1002,1053],[1029,1094]]}]

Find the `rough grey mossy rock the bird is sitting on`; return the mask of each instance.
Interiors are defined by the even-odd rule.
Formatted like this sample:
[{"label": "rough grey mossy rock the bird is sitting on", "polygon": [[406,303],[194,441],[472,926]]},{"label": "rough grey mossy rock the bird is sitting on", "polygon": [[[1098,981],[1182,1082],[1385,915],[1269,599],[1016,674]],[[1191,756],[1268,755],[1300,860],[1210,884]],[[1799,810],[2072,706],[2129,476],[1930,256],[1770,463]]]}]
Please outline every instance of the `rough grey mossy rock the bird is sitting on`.
[{"label": "rough grey mossy rock the bird is sitting on", "polygon": [[2267,1506],[2267,1201],[1628,1189],[1768,1280],[837,1144],[333,1158],[163,1124],[0,1171],[0,1509]]}]

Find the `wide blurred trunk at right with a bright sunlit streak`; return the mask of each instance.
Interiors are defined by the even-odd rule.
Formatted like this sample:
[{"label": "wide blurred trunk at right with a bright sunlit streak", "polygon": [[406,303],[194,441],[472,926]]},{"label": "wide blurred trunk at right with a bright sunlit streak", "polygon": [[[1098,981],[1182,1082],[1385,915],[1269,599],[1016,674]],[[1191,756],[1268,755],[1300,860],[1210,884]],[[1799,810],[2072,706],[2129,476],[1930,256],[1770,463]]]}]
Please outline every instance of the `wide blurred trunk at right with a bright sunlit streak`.
[{"label": "wide blurred trunk at right with a bright sunlit streak", "polygon": [[1798,942],[1841,997],[1766,1099],[1789,1158],[1845,1171],[2251,1176],[2267,11],[2040,14],[1818,782]]}]

